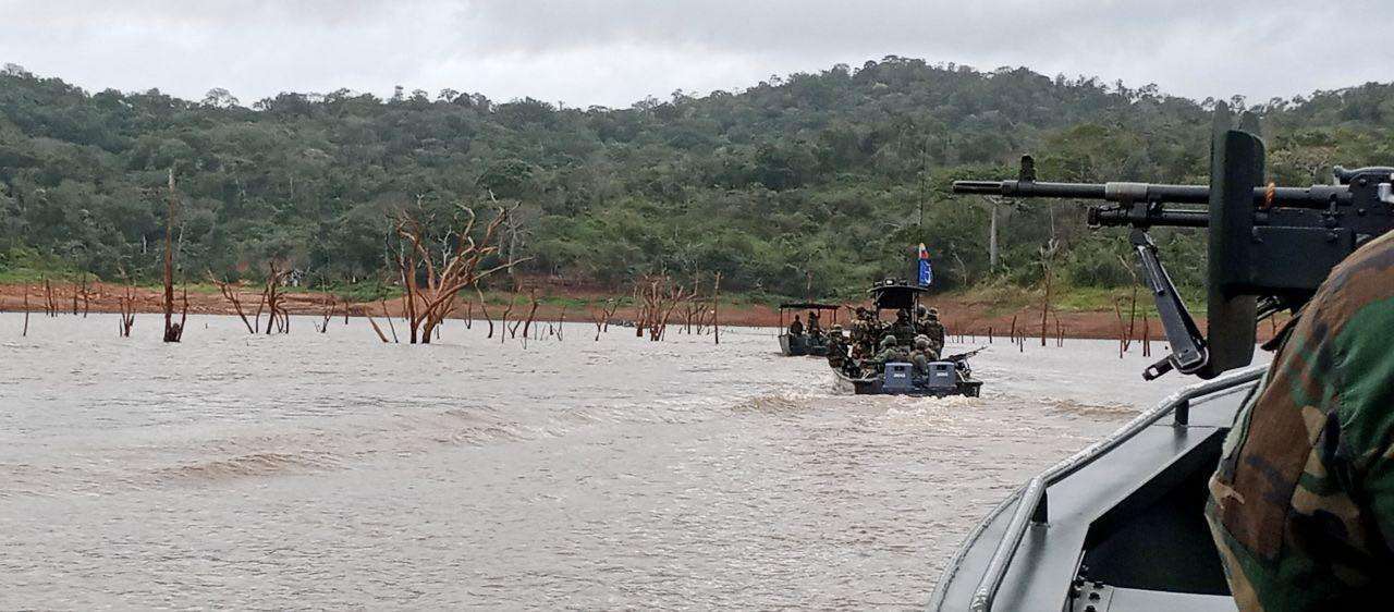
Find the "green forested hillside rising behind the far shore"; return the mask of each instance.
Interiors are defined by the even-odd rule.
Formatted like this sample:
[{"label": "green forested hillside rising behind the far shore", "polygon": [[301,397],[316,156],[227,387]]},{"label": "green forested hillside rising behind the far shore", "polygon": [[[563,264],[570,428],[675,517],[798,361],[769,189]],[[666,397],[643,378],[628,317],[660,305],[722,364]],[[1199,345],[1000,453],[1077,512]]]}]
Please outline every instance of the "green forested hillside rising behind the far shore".
[{"label": "green forested hillside rising behind the far shore", "polygon": [[[721,272],[736,290],[850,294],[905,276],[923,240],[941,286],[1032,284],[1054,237],[1065,280],[1112,286],[1129,282],[1122,240],[1089,233],[1066,202],[1004,209],[991,269],[984,202],[949,198],[948,181],[1013,176],[1033,152],[1041,180],[1203,183],[1211,106],[1156,86],[898,57],[630,109],[401,89],[181,100],[91,93],[10,66],[0,272],[45,262],[153,277],[173,169],[190,279],[258,277],[270,259],[315,283],[381,279],[393,211],[443,217],[492,194],[519,204],[506,244],[533,258],[527,272],[569,283]],[[1264,116],[1278,183],[1394,165],[1394,85],[1248,107]],[[1196,236],[1160,240],[1200,252]],[[1195,284],[1200,269],[1172,273]]]}]

